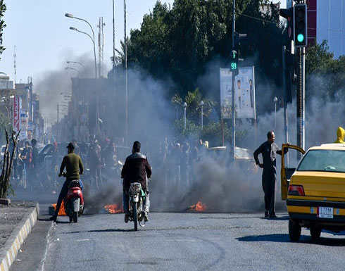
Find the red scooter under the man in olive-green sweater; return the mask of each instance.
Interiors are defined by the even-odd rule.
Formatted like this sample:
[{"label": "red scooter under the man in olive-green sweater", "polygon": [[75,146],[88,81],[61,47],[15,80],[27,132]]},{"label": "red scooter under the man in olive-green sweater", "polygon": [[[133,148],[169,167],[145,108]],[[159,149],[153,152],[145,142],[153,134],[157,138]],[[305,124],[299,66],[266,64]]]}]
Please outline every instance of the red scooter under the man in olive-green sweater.
[{"label": "red scooter under the man in olive-green sweater", "polygon": [[[66,173],[63,172],[62,176],[66,177]],[[82,187],[79,179],[74,179],[70,182],[64,203],[65,213],[70,218],[70,222],[77,223],[78,217],[80,217],[84,211],[84,197],[82,196]]]}]

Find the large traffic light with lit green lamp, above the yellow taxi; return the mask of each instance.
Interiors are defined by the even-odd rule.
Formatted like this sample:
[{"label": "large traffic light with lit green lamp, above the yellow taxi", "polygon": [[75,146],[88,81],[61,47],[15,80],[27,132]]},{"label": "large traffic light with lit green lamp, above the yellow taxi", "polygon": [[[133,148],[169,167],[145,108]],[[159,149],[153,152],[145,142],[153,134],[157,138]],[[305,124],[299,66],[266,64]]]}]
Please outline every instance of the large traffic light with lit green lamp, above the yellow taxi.
[{"label": "large traffic light with lit green lamp, above the yellow taxi", "polygon": [[294,5],[294,44],[295,47],[306,47],[307,37],[307,5]]}]

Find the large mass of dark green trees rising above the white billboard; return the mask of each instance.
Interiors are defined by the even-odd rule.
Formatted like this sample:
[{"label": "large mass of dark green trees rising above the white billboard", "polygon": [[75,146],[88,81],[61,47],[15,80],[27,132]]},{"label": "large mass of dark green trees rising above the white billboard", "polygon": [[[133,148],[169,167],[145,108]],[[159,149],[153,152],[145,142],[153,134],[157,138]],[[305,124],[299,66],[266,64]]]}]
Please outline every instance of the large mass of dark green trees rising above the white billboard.
[{"label": "large mass of dark green trees rising above the white billboard", "polygon": [[[257,73],[280,83],[283,27],[277,8],[264,15],[259,11],[267,0],[237,1],[237,31],[247,33],[240,57],[251,58]],[[127,45],[127,61],[132,68],[143,68],[153,78],[172,79],[171,94],[186,96],[189,89],[199,87],[201,93],[219,93],[203,89],[198,78],[206,65],[220,58],[227,65],[232,46],[232,1],[175,0],[172,7],[156,2],[151,13],[144,15],[139,30],[131,30]],[[123,52],[118,52],[123,61]],[[253,63],[253,59],[256,63]]]}]

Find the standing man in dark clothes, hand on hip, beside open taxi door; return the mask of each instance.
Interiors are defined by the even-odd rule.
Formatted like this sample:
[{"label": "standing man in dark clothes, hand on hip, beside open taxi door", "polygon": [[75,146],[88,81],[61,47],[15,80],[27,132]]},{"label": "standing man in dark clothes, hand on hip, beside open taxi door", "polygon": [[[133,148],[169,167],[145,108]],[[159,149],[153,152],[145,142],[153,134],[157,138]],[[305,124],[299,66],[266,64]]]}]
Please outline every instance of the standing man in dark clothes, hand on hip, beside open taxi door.
[{"label": "standing man in dark clothes, hand on hip, beside open taxi door", "polygon": [[[258,160],[258,155],[262,154],[263,163]],[[254,159],[256,165],[263,168],[263,192],[265,193],[265,218],[277,218],[275,215],[275,191],[277,187],[276,177],[276,156],[281,156],[282,151],[275,144],[275,133],[270,131],[267,133],[267,141],[254,151]]]}]

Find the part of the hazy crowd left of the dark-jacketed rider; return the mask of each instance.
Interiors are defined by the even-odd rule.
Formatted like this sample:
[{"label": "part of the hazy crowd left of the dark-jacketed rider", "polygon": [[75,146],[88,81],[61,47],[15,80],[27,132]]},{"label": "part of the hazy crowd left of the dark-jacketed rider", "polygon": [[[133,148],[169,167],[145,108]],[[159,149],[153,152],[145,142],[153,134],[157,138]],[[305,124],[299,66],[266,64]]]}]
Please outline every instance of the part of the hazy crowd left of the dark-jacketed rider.
[{"label": "part of the hazy crowd left of the dark-jacketed rider", "polygon": [[[82,157],[87,170],[83,178],[93,188],[99,189],[103,181],[116,175],[120,177],[120,164],[116,156],[115,143],[107,139],[100,143],[79,143],[73,139],[75,153]],[[61,186],[58,179],[58,168],[65,156],[65,144],[53,141],[41,157],[37,140],[19,141],[13,156],[13,184],[24,189],[52,189]],[[12,153],[13,143],[9,146]],[[42,148],[44,150],[44,146]]]}]

